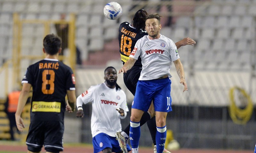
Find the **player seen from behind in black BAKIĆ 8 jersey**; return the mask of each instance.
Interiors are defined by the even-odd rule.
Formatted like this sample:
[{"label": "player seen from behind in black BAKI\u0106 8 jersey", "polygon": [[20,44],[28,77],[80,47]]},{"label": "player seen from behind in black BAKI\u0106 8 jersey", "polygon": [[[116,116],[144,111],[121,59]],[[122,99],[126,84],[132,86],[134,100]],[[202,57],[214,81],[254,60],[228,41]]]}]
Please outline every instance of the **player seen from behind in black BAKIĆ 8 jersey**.
[{"label": "player seen from behind in black BAKI\u0106 8 jersey", "polygon": [[[58,61],[61,39],[49,34],[44,38],[45,59],[28,67],[22,80],[16,125],[25,128],[20,117],[33,89],[30,109],[30,125],[26,144],[28,152],[40,152],[43,145],[47,153],[63,151],[64,112],[75,110],[75,77],[70,67]],[[68,96],[67,104],[65,97]]]}]

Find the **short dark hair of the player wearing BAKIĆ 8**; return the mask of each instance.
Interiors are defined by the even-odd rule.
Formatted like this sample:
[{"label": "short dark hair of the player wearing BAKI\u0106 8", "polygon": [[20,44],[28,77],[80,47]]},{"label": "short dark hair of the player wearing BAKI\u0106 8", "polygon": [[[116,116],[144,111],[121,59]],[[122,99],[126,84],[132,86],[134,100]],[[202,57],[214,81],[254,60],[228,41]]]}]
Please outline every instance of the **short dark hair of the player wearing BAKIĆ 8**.
[{"label": "short dark hair of the player wearing BAKI\u0106 8", "polygon": [[44,50],[47,54],[55,55],[61,46],[61,38],[55,34],[48,34],[44,37]]}]

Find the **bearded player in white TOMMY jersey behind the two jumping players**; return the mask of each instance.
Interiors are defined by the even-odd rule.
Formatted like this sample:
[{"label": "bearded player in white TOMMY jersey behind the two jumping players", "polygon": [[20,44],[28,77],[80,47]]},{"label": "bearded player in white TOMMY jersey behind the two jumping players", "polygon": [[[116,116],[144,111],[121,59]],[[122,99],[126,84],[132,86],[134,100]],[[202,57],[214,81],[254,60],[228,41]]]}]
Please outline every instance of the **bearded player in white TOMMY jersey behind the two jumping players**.
[{"label": "bearded player in white TOMMY jersey behind the two jumping players", "polygon": [[[105,83],[91,86],[76,99],[76,117],[84,117],[83,104],[92,102],[92,144],[94,153],[123,153],[116,140],[116,131],[121,131],[120,119],[129,111],[124,91],[116,84],[117,72],[114,67],[104,71]],[[127,150],[131,151],[129,145]]]}]

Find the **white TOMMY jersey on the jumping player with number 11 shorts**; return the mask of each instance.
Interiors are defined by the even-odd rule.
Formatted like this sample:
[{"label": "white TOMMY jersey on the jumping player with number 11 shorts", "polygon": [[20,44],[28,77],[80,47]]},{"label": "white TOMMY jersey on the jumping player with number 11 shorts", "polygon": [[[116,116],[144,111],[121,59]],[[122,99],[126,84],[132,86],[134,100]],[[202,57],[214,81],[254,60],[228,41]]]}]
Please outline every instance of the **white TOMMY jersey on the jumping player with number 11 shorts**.
[{"label": "white TOMMY jersey on the jumping player with number 11 shorts", "polygon": [[159,39],[150,40],[148,36],[139,39],[129,57],[141,57],[142,71],[139,80],[153,80],[164,75],[172,77],[172,61],[180,58],[175,43],[160,35]]}]

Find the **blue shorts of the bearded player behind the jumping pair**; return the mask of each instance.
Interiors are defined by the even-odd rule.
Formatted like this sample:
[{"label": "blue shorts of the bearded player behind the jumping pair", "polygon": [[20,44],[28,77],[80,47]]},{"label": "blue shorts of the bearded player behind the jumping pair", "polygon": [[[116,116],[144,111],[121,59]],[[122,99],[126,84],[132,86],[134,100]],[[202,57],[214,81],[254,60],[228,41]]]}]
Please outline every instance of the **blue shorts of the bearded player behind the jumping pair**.
[{"label": "blue shorts of the bearded player behind the jumping pair", "polygon": [[[121,152],[116,137],[109,136],[105,133],[99,133],[92,138],[93,152],[98,153],[105,148],[112,148],[112,152]],[[127,151],[131,151],[131,147],[127,144]]]}]

